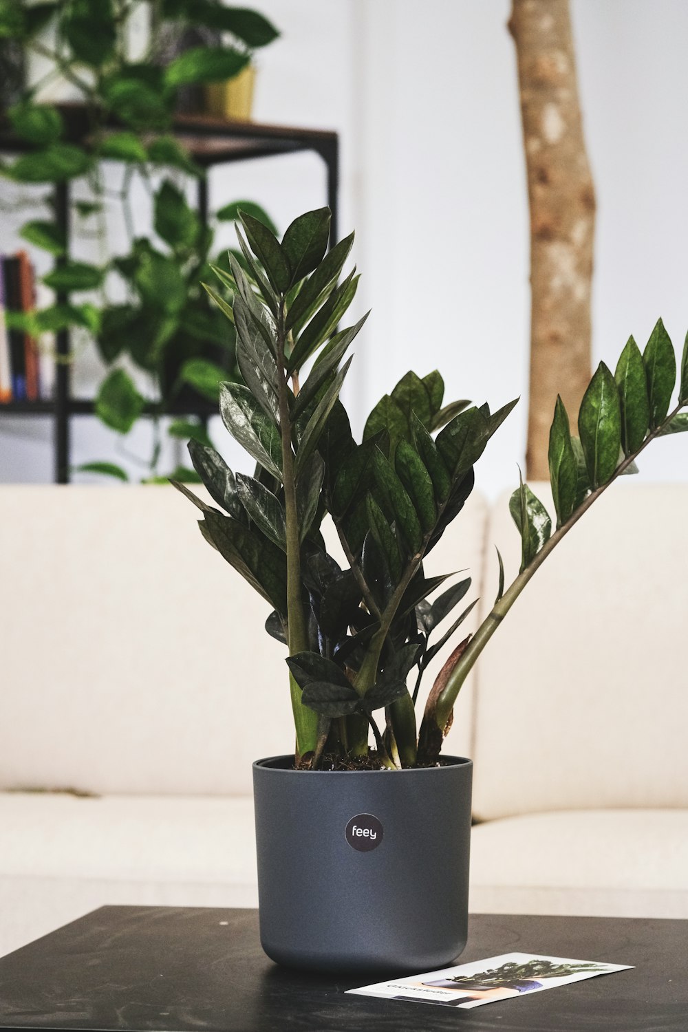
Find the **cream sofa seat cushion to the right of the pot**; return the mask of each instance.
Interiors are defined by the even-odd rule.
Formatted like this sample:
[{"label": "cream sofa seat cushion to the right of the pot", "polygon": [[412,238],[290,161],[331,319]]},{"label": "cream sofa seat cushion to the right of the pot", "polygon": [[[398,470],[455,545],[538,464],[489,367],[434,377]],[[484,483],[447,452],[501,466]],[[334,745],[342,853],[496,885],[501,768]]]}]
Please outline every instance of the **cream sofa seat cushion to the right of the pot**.
[{"label": "cream sofa seat cushion to the right of the pot", "polygon": [[688,918],[688,810],[570,810],[478,825],[469,906]]}]

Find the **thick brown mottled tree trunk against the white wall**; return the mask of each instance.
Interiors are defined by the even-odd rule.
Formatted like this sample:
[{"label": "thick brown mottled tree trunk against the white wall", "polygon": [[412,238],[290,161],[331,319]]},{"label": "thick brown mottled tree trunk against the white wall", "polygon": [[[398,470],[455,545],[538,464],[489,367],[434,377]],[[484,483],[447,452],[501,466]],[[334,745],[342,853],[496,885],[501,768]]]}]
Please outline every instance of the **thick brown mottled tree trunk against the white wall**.
[{"label": "thick brown mottled tree trunk against the white wall", "polygon": [[568,0],[513,0],[530,206],[527,476],[547,480],[557,393],[576,420],[591,376],[595,194],[583,136]]}]

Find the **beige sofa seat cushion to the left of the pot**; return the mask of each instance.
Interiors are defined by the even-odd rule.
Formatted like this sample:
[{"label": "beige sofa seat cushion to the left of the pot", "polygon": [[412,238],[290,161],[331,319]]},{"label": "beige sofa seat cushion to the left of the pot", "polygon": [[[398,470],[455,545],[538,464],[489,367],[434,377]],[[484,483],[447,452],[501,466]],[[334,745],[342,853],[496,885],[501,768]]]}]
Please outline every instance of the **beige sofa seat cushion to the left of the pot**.
[{"label": "beige sofa seat cushion to the left of the pot", "polygon": [[0,956],[106,904],[257,906],[247,797],[0,793]]}]

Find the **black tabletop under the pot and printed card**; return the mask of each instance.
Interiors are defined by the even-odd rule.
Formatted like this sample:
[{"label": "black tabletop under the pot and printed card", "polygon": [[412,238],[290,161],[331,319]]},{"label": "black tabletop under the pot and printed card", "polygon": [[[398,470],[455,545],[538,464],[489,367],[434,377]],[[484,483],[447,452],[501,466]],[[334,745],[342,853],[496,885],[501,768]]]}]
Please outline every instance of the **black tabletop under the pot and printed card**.
[{"label": "black tabletop under the pot and printed card", "polygon": [[688,921],[476,915],[461,961],[519,950],[636,967],[448,1012],[342,995],[380,977],[276,967],[255,910],[101,907],[0,959],[0,1028],[685,1032],[687,947]]}]

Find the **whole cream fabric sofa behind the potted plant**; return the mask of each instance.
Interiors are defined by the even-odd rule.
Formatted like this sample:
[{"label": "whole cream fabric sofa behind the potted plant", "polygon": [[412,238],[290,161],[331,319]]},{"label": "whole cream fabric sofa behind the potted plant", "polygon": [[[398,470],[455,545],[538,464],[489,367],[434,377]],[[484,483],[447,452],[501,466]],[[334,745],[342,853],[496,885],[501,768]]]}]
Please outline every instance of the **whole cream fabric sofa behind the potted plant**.
[{"label": "whole cream fabric sofa behind the potted plant", "polygon": [[[688,917],[686,513],[615,485],[464,687],[471,909]],[[167,487],[0,486],[0,954],[106,903],[257,904],[284,652],[194,523]],[[506,498],[473,494],[427,569],[469,568],[485,613],[495,544],[513,575]]]}]

